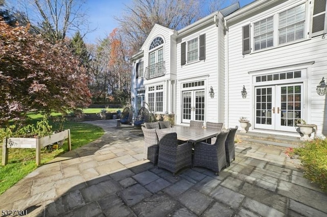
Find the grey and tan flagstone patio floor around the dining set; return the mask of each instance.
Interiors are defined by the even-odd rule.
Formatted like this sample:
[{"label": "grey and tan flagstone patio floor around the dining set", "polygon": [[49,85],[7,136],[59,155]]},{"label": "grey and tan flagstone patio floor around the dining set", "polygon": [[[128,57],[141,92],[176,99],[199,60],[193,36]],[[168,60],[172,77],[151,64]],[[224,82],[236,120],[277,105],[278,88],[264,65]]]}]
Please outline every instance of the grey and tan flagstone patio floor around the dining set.
[{"label": "grey and tan flagstone patio floor around the dining set", "polygon": [[230,167],[173,176],[143,160],[142,135],[91,122],[100,139],[43,165],[0,195],[28,216],[326,216],[327,193],[303,177],[283,148],[236,144]]}]

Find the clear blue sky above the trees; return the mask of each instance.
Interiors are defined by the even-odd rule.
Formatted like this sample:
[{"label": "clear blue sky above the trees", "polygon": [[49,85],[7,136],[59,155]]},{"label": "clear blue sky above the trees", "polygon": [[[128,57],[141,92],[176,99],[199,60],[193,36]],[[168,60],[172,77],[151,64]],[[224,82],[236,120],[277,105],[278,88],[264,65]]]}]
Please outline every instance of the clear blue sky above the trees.
[{"label": "clear blue sky above the trees", "polygon": [[[241,7],[254,0],[240,0]],[[87,0],[86,9],[89,16],[89,28],[96,29],[95,32],[87,33],[84,41],[86,43],[96,43],[97,39],[105,38],[118,23],[113,18],[124,13],[125,5],[131,4],[132,0]],[[230,3],[226,1],[228,6]],[[125,4],[125,5],[124,5]]]}]

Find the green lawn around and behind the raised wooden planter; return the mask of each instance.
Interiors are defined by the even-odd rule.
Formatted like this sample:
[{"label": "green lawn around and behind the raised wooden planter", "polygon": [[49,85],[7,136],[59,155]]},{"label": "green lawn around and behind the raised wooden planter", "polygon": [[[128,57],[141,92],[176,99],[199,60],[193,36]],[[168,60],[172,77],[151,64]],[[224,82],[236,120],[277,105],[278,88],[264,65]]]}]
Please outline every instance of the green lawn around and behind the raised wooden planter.
[{"label": "green lawn around and behind the raised wooden planter", "polygon": [[[52,114],[60,116],[59,113]],[[42,116],[39,114],[31,114],[32,122],[36,122]],[[50,121],[53,130],[57,128],[56,124]],[[100,138],[104,131],[101,127],[79,122],[65,122],[65,129],[71,129],[72,149],[76,149]],[[42,149],[41,164],[59,156],[67,151],[67,142],[63,147],[53,151]],[[0,147],[2,153],[2,146]],[[0,161],[2,155],[0,155]],[[8,164],[0,166],[0,194],[4,193],[8,188],[24,178],[27,174],[36,169],[35,149],[9,148]]]}]

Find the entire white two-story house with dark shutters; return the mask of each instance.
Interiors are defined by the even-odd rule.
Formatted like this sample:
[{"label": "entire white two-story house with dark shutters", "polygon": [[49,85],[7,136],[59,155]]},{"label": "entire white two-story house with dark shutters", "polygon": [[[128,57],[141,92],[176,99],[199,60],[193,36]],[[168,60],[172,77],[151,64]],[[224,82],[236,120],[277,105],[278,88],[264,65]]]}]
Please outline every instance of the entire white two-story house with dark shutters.
[{"label": "entire white two-story house with dark shutters", "polygon": [[243,116],[250,131],[299,137],[305,120],[325,135],[326,95],[316,90],[327,77],[325,11],[326,0],[257,0],[179,31],[156,24],[131,59],[132,104],[145,100],[176,124],[233,127]]}]

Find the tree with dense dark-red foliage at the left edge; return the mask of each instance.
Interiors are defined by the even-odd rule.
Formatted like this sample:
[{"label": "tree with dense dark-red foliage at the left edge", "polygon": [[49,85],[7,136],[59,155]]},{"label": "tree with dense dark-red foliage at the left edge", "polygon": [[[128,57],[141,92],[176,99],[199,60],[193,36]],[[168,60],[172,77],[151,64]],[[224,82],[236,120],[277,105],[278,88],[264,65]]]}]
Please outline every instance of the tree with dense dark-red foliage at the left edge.
[{"label": "tree with dense dark-red foliage at the left edge", "polygon": [[62,112],[90,103],[85,68],[63,43],[0,20],[0,126],[29,112]]}]

